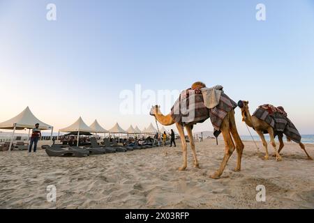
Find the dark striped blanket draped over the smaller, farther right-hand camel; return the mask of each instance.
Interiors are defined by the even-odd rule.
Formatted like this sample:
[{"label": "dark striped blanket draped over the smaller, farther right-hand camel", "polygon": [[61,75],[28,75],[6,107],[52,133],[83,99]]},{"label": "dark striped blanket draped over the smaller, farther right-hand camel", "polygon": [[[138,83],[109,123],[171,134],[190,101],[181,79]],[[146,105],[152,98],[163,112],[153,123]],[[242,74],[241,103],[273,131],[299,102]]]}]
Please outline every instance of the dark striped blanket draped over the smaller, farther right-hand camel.
[{"label": "dark striped blanket draped over the smaller, farther right-hand camel", "polygon": [[[268,109],[269,107],[265,107],[264,105],[258,107],[254,112],[253,116],[259,118],[262,121],[268,123],[272,128],[274,128],[274,134],[281,135],[285,134],[292,141],[295,141],[297,144],[301,142],[301,134],[294,126],[292,121],[287,118],[287,113],[282,107],[275,107],[278,110],[274,110],[274,106],[271,105],[271,112]],[[268,133],[268,132],[264,132]]]}]

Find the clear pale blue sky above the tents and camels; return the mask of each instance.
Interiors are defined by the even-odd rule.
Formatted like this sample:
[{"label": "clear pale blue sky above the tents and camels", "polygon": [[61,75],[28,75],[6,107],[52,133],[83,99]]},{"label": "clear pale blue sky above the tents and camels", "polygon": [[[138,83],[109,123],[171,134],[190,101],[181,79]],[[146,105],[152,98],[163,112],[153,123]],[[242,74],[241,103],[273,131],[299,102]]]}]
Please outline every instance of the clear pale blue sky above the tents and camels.
[{"label": "clear pale blue sky above the tents and camels", "polygon": [[[57,21],[46,20],[48,3]],[[266,21],[255,19],[257,3]],[[154,118],[121,114],[121,91],[200,80],[249,100],[251,112],[282,105],[314,134],[314,1],[0,0],[0,77],[0,121],[29,106],[55,129],[79,116],[144,128]],[[239,109],[236,118],[248,134]]]}]

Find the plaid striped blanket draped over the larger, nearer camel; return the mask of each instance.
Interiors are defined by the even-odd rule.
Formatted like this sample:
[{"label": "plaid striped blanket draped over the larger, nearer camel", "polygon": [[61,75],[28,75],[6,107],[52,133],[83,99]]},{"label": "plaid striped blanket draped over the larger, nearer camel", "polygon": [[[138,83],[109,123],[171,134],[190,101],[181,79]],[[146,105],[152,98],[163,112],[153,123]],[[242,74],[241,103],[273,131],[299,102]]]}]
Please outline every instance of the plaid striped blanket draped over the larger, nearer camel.
[{"label": "plaid striped blanket draped over the larger, nearer camel", "polygon": [[208,118],[214,126],[214,134],[220,134],[220,125],[227,113],[237,107],[237,103],[231,100],[225,93],[221,93],[216,107],[209,109],[204,104],[202,91],[187,89],[182,91],[171,109],[171,116],[176,123],[190,125],[202,123]]}]

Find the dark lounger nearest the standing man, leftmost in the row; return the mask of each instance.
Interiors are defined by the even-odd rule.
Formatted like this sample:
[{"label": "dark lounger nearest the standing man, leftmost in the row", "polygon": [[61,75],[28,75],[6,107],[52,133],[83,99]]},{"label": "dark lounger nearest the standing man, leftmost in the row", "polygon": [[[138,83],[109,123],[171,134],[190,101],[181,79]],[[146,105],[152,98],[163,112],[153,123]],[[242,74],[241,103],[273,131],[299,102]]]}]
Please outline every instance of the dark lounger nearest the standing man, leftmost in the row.
[{"label": "dark lounger nearest the standing man, leftmost in the row", "polygon": [[61,146],[49,146],[45,149],[47,155],[52,157],[87,157],[89,156],[89,151],[77,150],[73,148],[61,148]]}]

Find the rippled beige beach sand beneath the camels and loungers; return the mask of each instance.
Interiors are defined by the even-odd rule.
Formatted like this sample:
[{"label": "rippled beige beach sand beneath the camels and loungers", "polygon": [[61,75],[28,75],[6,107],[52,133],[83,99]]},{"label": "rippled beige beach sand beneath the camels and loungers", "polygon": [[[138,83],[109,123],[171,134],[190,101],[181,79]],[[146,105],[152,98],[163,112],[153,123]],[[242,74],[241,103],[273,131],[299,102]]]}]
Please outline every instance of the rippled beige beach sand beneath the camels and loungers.
[{"label": "rippled beige beach sand beneath the camels and loungers", "polygon": [[[314,161],[294,143],[283,148],[283,161],[263,160],[245,141],[242,171],[234,172],[234,153],[223,176],[209,178],[220,164],[223,141],[197,142],[201,169],[181,166],[181,147],[149,148],[84,158],[48,157],[45,151],[0,153],[0,208],[314,208]],[[314,145],[306,145],[314,157]],[[165,155],[165,150],[167,155]],[[271,148],[269,151],[273,152]],[[46,199],[48,185],[57,201]],[[257,202],[256,186],[266,187]]]}]

